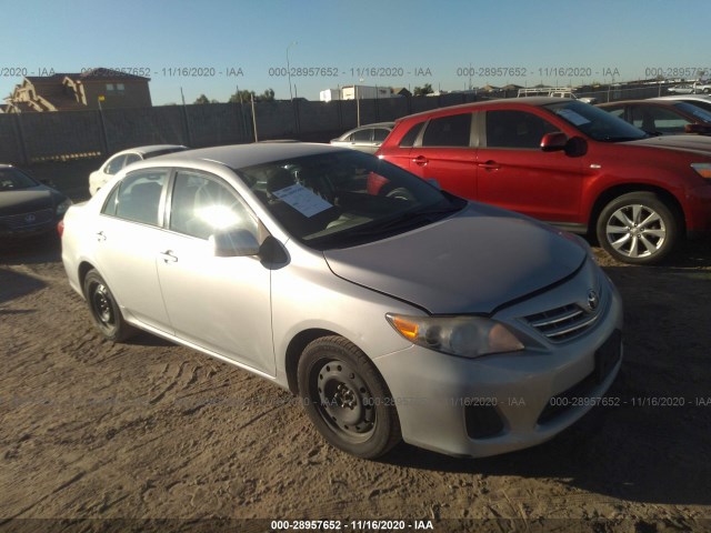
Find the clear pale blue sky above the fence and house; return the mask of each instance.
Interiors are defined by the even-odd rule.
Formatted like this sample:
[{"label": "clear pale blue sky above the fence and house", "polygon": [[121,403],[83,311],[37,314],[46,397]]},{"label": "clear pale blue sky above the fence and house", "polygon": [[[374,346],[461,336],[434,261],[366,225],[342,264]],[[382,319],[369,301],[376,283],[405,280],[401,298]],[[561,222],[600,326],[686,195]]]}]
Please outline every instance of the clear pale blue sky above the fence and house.
[{"label": "clear pale blue sky above the fence and house", "polygon": [[2,98],[23,76],[98,67],[148,74],[154,105],[237,89],[318,100],[353,83],[452,91],[711,72],[709,0],[0,0],[0,12]]}]

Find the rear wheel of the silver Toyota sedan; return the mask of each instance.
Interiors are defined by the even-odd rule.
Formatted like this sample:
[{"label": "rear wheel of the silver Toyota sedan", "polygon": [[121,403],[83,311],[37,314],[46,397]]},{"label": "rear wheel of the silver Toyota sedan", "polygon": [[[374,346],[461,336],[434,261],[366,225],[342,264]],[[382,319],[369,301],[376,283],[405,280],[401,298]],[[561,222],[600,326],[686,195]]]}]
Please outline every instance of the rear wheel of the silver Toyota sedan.
[{"label": "rear wheel of the silver Toyota sedan", "polygon": [[99,272],[87,272],[83,289],[91,318],[106,339],[121,342],[137,333],[136,328],[123,320],[119,304]]}]

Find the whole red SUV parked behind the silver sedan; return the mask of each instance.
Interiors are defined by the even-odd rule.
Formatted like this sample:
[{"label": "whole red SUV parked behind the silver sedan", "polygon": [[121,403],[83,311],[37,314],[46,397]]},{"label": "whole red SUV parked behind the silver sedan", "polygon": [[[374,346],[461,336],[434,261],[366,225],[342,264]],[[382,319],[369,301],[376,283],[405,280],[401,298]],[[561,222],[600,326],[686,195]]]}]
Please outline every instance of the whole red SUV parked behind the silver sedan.
[{"label": "whole red SUV parked behind the silver sedan", "polygon": [[[454,194],[575,233],[615,259],[653,263],[711,230],[711,139],[650,137],[577,100],[477,102],[397,121],[378,155]],[[397,195],[388,183],[371,192]]]}]

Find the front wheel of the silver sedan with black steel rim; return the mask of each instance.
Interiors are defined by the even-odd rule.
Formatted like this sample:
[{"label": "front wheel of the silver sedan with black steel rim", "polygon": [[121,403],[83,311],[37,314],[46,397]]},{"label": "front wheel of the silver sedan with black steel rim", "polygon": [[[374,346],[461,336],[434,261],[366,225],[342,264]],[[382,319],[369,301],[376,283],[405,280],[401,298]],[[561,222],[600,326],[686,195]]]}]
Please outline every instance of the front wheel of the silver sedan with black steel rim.
[{"label": "front wheel of the silver sedan with black steel rim", "polygon": [[400,421],[388,386],[351,342],[342,336],[312,341],[297,372],[307,414],[330,444],[375,459],[400,442]]}]

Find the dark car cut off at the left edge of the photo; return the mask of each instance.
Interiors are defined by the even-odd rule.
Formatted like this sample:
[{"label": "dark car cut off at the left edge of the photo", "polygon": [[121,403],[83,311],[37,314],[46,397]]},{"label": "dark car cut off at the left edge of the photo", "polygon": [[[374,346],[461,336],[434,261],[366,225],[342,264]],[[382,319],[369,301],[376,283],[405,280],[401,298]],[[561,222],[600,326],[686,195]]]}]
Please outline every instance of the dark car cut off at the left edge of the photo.
[{"label": "dark car cut off at the left edge of the photo", "polygon": [[0,239],[52,232],[70,205],[61,192],[0,164]]}]

